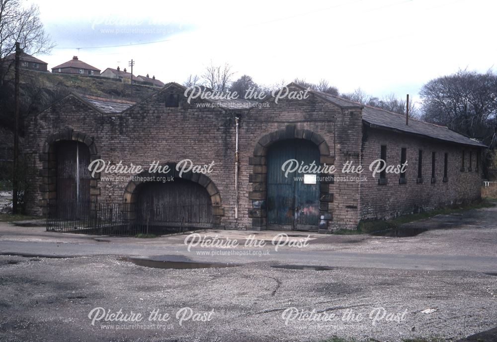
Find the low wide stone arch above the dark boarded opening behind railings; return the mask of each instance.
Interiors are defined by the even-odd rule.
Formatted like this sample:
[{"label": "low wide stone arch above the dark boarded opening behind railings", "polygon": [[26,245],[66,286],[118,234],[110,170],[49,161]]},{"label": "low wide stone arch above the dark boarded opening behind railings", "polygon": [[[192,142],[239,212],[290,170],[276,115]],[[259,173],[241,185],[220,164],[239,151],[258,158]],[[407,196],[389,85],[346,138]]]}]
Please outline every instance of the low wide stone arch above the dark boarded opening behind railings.
[{"label": "low wide stone arch above the dark boarded opening behind railings", "polygon": [[[191,181],[194,183],[200,184],[210,196],[211,205],[212,205],[212,222],[214,225],[221,224],[221,217],[224,216],[224,208],[221,202],[221,194],[216,186],[216,184],[205,174],[203,173],[193,173],[191,171],[184,172],[183,174],[179,174],[179,171],[176,170],[176,163],[166,163],[169,167],[169,172],[165,174],[161,174],[164,177],[174,177],[179,179],[184,179],[187,181]],[[163,166],[164,166],[163,165]],[[154,176],[157,174],[149,173],[148,171],[143,171],[138,174],[140,178],[146,178],[149,176]],[[136,176],[138,176],[136,175]],[[141,180],[130,180],[124,190],[124,201],[129,204],[133,204],[137,202],[138,192],[135,191],[136,188],[143,184],[144,182]]]}]

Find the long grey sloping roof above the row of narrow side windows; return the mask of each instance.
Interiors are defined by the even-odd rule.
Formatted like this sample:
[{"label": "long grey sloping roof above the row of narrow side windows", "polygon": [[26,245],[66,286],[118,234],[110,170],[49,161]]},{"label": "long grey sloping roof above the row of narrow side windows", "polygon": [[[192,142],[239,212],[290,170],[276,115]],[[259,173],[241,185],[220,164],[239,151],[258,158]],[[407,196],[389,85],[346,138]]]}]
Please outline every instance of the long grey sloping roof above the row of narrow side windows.
[{"label": "long grey sloping roof above the row of narrow side windows", "polygon": [[374,127],[382,127],[466,145],[487,147],[482,142],[463,136],[462,134],[454,132],[445,126],[430,124],[412,118],[409,118],[409,125],[406,125],[405,115],[392,113],[380,108],[365,106],[362,110],[362,120]]}]

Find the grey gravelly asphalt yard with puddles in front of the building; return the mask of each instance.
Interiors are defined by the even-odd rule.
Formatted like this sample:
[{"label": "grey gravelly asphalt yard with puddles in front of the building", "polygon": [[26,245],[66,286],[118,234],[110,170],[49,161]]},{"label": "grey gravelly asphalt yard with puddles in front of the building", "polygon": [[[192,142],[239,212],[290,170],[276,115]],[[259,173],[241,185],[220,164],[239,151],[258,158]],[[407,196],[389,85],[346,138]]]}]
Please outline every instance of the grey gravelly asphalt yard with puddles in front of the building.
[{"label": "grey gravelly asphalt yard with puddles in front of the building", "polygon": [[[456,341],[497,326],[496,218],[497,208],[477,209],[418,221],[434,230],[414,237],[311,234],[278,250],[274,231],[199,232],[241,245],[188,250],[186,235],[96,237],[0,223],[0,341]],[[245,247],[250,235],[265,246]],[[123,257],[216,267],[152,268]],[[219,268],[226,263],[239,266]],[[100,315],[120,309],[143,319]],[[158,321],[162,314],[170,316]]]}]

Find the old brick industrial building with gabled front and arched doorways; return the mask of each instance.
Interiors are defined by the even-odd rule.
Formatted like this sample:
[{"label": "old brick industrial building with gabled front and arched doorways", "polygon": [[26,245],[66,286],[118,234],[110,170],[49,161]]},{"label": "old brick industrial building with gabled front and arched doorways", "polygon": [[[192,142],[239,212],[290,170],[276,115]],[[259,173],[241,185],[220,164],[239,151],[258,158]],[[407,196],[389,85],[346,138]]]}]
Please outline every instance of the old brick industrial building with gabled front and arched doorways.
[{"label": "old brick industrial building with gabled front and arched doorways", "polygon": [[[287,90],[305,91],[294,83]],[[188,103],[184,93],[183,86],[167,83],[137,104],[70,94],[27,118],[24,151],[39,171],[28,211],[40,214],[49,199],[76,196],[74,190],[61,193],[76,177],[60,174],[59,163],[67,159],[61,153],[76,153],[82,170],[98,159],[144,166],[160,161],[174,182],[132,181],[132,172],[109,180],[104,171],[83,171],[71,184],[80,184],[77,193],[89,199],[121,197],[140,205],[146,194],[156,201],[207,201],[212,221],[228,228],[326,232],[480,198],[485,145],[445,127],[406,123],[402,115],[317,91],[277,103],[271,96]],[[180,175],[177,163],[185,159],[213,163],[212,170]],[[373,176],[377,159],[407,167]],[[290,171],[294,162],[299,169]],[[343,165],[364,171],[346,172]]]}]

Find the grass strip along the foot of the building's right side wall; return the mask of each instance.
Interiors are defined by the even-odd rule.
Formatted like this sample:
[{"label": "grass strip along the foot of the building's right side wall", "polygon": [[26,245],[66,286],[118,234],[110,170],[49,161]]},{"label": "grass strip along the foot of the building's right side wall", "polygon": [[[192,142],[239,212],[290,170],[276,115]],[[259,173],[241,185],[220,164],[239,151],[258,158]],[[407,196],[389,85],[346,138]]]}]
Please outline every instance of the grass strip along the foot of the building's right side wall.
[{"label": "grass strip along the foot of the building's right side wall", "polygon": [[362,220],[359,222],[357,230],[355,231],[358,231],[357,234],[360,234],[360,233],[372,233],[388,229],[396,229],[399,226],[403,225],[404,223],[430,218],[436,215],[448,215],[471,209],[489,208],[496,206],[496,204],[497,203],[495,199],[485,198],[480,202],[475,202],[466,205],[453,205],[450,207],[444,207],[430,211],[423,211],[415,214],[403,215],[390,220]]}]

